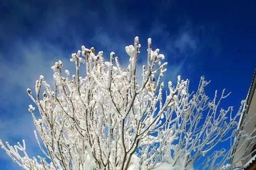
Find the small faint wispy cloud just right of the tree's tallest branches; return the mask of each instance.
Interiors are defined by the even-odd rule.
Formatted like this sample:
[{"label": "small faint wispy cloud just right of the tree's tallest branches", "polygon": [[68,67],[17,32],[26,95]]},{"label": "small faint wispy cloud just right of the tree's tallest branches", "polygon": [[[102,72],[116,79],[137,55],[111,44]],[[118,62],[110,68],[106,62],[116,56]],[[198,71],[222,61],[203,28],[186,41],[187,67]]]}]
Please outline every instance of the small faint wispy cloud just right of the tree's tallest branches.
[{"label": "small faint wispy cloud just right of the tree's tallest branches", "polygon": [[197,28],[194,28],[190,22],[186,22],[174,33],[170,32],[167,24],[155,22],[152,25],[150,35],[156,37],[158,43],[162,44],[163,53],[168,61],[168,70],[164,80],[176,81],[177,75],[182,75],[188,69],[192,71],[192,63],[188,59],[195,56],[200,50],[200,42],[195,35]]}]

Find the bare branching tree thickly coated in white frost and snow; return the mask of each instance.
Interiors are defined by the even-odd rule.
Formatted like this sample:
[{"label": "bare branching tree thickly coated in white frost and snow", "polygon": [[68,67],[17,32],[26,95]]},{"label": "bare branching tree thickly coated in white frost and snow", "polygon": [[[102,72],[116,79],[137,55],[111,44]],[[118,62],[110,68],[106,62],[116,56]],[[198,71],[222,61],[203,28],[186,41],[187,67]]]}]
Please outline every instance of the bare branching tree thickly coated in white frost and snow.
[{"label": "bare branching tree thickly coated in white frost and snow", "polygon": [[[126,68],[114,52],[104,61],[103,52],[85,46],[70,59],[75,75],[56,62],[53,87],[41,75],[35,92],[27,89],[38,108],[28,111],[44,156],[30,158],[24,140],[15,146],[0,140],[6,154],[24,169],[232,169],[232,150],[243,147],[236,139],[255,142],[237,128],[244,102],[236,113],[220,108],[229,94],[215,91],[210,99],[204,77],[194,92],[180,76],[164,86],[164,55],[148,39],[147,62],[139,68],[140,47],[138,37],[125,47]],[[86,75],[80,74],[83,64]],[[220,147],[226,143],[228,150]]]}]

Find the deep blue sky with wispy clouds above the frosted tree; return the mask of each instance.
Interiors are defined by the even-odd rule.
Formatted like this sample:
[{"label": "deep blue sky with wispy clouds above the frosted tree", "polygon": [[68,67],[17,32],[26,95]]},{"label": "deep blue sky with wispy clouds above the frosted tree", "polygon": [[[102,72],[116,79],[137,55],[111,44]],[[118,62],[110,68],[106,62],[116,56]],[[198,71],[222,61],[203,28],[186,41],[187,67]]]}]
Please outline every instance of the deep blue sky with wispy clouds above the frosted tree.
[{"label": "deep blue sky with wispy clouds above the frosted tree", "polygon": [[[127,63],[125,45],[139,36],[140,62],[151,37],[168,61],[166,79],[177,75],[212,80],[208,91],[232,91],[226,100],[237,109],[245,99],[256,62],[256,1],[1,1],[0,138],[12,145],[27,141],[38,154],[27,111],[27,87],[59,59],[68,62],[81,45]],[[0,169],[20,169],[0,150]]]}]

